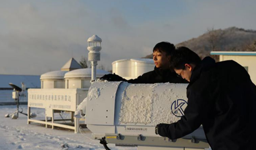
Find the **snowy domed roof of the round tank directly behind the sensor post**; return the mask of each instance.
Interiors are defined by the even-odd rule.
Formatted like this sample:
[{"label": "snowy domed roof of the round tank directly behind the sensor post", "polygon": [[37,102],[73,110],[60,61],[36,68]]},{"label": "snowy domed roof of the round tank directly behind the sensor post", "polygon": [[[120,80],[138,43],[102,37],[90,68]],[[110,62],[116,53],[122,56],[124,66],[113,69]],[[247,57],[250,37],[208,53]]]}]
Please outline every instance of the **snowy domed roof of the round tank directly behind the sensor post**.
[{"label": "snowy domed roof of the round tank directly behind the sensor post", "polygon": [[[111,74],[108,71],[97,69],[96,77],[102,77],[105,74]],[[91,78],[92,77],[92,68],[83,68],[69,71],[65,74],[65,79],[67,78]]]}]

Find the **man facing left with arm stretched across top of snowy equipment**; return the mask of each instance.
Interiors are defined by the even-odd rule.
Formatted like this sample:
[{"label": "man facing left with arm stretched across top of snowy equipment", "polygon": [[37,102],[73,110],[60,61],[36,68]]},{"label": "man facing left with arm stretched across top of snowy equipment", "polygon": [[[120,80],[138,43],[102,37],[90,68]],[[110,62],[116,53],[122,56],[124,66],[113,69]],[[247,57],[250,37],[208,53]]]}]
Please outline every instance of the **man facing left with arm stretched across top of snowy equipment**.
[{"label": "man facing left with arm stretched across top of snowy equipment", "polygon": [[128,83],[187,83],[186,80],[177,77],[176,73],[170,69],[170,55],[175,50],[175,46],[170,42],[159,42],[153,48],[154,71],[149,71],[136,79],[126,80],[116,74],[106,74],[100,79],[108,81],[126,81]]}]

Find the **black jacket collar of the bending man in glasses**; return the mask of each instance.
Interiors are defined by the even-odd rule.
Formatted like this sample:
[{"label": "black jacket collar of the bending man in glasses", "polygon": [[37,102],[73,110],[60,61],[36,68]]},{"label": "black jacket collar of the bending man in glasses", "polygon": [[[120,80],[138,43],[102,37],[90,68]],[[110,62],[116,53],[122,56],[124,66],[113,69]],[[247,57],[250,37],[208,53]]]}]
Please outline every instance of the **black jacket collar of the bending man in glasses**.
[{"label": "black jacket collar of the bending man in glasses", "polygon": [[191,78],[190,78],[190,84],[193,84],[201,75],[202,71],[204,70],[208,70],[211,66],[213,66],[215,64],[215,60],[209,56],[205,57],[202,61],[201,64],[197,65],[192,74],[191,74]]}]

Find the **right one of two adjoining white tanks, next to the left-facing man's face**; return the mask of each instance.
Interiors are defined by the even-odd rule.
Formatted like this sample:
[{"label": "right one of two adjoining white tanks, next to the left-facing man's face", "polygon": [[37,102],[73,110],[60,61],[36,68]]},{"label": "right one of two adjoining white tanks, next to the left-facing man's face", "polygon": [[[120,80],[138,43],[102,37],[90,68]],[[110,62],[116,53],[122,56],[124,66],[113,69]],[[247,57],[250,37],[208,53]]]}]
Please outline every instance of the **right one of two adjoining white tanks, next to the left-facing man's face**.
[{"label": "right one of two adjoining white tanks, next to the left-facing man's face", "polygon": [[138,76],[154,70],[155,64],[153,59],[140,58],[131,59],[132,66],[132,78],[137,78]]}]

